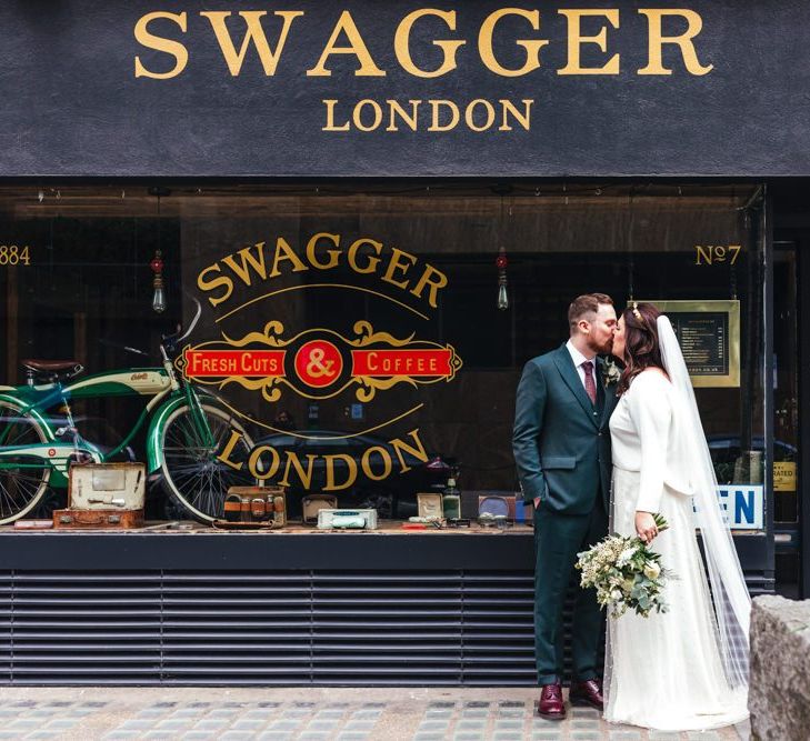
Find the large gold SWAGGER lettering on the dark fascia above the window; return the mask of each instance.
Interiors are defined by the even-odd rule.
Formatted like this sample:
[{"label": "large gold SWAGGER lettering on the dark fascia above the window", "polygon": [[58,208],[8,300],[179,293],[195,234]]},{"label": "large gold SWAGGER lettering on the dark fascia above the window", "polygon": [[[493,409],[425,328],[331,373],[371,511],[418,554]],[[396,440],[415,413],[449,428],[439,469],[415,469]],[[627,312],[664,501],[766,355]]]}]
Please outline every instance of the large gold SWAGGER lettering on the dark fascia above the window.
[{"label": "large gold SWAGGER lettering on the dark fascia above the window", "polygon": [[[419,8],[402,17],[396,29],[391,29],[392,36],[388,37],[393,39],[392,57],[399,68],[417,78],[440,78],[459,73],[461,62],[469,69],[477,54],[478,63],[490,73],[504,78],[524,77],[543,67],[541,50],[544,51],[552,43],[564,43],[568,59],[558,70],[560,74],[619,73],[620,50],[616,49],[614,43],[611,44],[609,38],[609,29],[620,27],[622,10],[619,8],[566,8],[548,13],[511,7],[499,8],[481,21],[476,37],[447,38],[457,33],[458,16],[461,12]],[[628,12],[627,9],[623,10],[623,13]],[[703,30],[700,13],[687,8],[638,8],[636,13],[643,17],[647,23],[646,27],[640,27],[643,30],[640,30],[639,37],[632,39],[634,49],[646,44],[648,50],[648,62],[636,70],[637,74],[672,74],[673,69],[663,64],[662,50],[666,46],[680,53],[678,71],[702,76],[713,69],[712,64],[701,63],[696,46]],[[340,11],[330,21],[331,31],[328,36],[321,32],[316,38],[317,48],[311,56],[304,54],[304,61],[299,69],[291,70],[289,66],[286,67],[286,50],[297,40],[300,42],[302,28],[306,28],[303,22],[296,21],[306,14],[302,10],[276,10],[272,14],[266,10],[241,10],[233,16],[230,10],[206,10],[198,13],[209,21],[202,24],[193,22],[196,18],[186,11],[146,13],[137,19],[132,29],[133,36],[141,47],[160,53],[157,59],[152,59],[153,56],[136,54],[134,77],[169,80],[182,74],[189,66],[189,59],[193,58],[189,48],[193,47],[197,38],[191,38],[190,34],[204,33],[206,28],[209,34],[213,34],[226,68],[233,77],[246,73],[244,69],[254,69],[243,64],[248,56],[258,57],[267,77],[282,71],[317,78],[330,78],[333,71],[341,74],[353,71],[357,77],[368,78],[388,74],[378,63],[381,36],[379,21],[374,23],[373,36],[368,31],[363,36],[364,19],[354,18],[348,10]],[[593,24],[589,26],[589,29],[597,31],[594,34],[584,34],[581,29],[580,21],[587,17],[594,17],[591,19]],[[419,32],[414,31],[417,26]],[[369,44],[369,39],[377,43]],[[601,67],[586,67],[580,62],[580,47],[583,44],[596,44],[604,53],[604,63]],[[440,50],[441,60],[438,66],[434,63],[432,68],[428,68],[417,63],[417,60],[424,58],[426,46]],[[522,49],[522,59],[517,64],[507,66],[506,60],[512,58],[516,46]],[[673,61],[670,60],[670,63]],[[376,113],[376,109],[368,107],[366,113],[371,116]]]}]

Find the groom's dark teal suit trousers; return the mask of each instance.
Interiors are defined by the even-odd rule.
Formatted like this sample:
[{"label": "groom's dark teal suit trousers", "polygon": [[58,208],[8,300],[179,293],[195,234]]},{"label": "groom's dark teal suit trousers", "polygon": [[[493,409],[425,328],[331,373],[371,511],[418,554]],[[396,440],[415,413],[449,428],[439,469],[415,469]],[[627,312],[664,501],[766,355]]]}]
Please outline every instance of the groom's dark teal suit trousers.
[{"label": "groom's dark teal suit trousers", "polygon": [[588,514],[552,512],[541,503],[534,510],[534,658],[538,683],[562,681],[562,609],[576,574],[572,643],[573,681],[597,679],[603,615],[594,589],[579,587],[577,553],[608,534],[608,514],[601,493]]}]

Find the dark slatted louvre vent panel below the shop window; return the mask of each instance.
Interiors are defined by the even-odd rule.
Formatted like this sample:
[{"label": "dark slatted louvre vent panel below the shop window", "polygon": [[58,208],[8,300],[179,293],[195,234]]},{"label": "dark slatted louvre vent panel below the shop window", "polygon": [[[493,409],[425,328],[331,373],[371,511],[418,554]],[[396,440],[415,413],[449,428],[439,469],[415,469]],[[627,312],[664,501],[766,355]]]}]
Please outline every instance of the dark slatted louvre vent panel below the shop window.
[{"label": "dark slatted louvre vent panel below the shop window", "polygon": [[0,684],[534,683],[528,572],[6,571],[0,601]]}]

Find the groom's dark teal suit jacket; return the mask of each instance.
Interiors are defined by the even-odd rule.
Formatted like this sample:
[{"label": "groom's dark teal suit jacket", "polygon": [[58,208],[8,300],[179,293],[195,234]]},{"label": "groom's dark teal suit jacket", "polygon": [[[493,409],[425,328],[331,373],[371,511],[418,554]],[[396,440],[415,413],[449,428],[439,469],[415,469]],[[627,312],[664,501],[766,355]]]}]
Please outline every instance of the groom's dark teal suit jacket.
[{"label": "groom's dark teal suit jacket", "polygon": [[610,430],[616,383],[604,388],[597,359],[597,403],[591,403],[562,344],[533,358],[518,385],[512,450],[523,499],[567,514],[586,514],[597,497],[610,505]]}]

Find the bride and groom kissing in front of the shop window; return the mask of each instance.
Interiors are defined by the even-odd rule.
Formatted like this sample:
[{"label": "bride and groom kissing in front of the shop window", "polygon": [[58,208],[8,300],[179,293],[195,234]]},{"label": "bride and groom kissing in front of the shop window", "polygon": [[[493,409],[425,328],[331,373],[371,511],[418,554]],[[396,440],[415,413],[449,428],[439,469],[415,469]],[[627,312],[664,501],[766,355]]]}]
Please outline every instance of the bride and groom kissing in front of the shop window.
[{"label": "bride and groom kissing in front of the shop window", "polygon": [[738,723],[748,715],[750,598],[672,326],[651,303],[617,316],[604,293],[574,299],[568,321],[568,341],[523,369],[512,440],[533,508],[538,713],[566,718],[567,588],[577,554],[610,531],[638,535],[678,578],[667,612],[608,618],[603,678],[603,619],[594,590],[578,590],[569,701],[660,731]]}]

